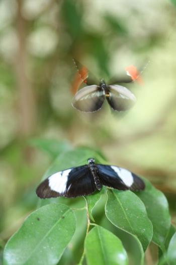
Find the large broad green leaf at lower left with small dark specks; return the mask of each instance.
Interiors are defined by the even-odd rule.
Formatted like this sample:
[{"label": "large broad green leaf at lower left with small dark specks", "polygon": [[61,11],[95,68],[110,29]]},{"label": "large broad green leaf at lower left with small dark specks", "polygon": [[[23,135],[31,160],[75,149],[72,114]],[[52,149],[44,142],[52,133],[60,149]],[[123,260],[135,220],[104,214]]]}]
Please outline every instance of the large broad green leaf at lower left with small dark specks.
[{"label": "large broad green leaf at lower left with small dark specks", "polygon": [[4,265],[54,265],[75,231],[73,211],[53,203],[34,211],[8,241]]}]

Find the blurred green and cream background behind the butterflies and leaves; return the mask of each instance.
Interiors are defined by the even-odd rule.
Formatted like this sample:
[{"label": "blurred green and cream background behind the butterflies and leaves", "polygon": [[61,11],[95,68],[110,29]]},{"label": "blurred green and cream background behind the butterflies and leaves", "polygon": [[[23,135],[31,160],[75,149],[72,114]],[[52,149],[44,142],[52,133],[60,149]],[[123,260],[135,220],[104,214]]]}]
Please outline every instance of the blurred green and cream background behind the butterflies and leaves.
[{"label": "blurred green and cream background behind the butterflies and leaves", "polygon": [[[101,150],[112,165],[148,178],[175,220],[176,10],[169,0],[0,2],[0,248],[36,208],[35,188],[57,146]],[[98,78],[143,69],[125,114],[71,106],[72,57]],[[53,155],[41,140],[50,139]],[[40,148],[37,148],[40,147]]]}]

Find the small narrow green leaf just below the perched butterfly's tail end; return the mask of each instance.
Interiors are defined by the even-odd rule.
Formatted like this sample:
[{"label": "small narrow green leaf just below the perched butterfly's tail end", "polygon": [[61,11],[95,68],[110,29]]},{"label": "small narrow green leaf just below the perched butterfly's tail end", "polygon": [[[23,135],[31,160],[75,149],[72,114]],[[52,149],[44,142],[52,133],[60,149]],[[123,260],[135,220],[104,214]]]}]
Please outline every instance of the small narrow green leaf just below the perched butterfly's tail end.
[{"label": "small narrow green leaf just below the perched butterfly's tail end", "polygon": [[92,210],[96,206],[97,202],[100,200],[101,195],[105,192],[105,187],[102,188],[101,191],[97,191],[92,195],[89,196],[84,196],[86,204],[87,204],[87,209],[89,212],[89,216],[92,219],[93,222],[95,222],[94,217],[92,215]]}]

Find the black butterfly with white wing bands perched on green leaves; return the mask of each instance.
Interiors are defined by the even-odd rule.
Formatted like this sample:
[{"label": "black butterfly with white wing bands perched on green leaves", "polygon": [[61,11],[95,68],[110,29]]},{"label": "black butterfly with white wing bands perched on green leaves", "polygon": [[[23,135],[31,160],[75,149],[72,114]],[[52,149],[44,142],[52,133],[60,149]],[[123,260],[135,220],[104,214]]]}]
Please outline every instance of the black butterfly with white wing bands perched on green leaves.
[{"label": "black butterfly with white wing bands perched on green leaves", "polygon": [[88,162],[87,165],[56,172],[45,179],[36,190],[37,196],[51,198],[90,195],[101,190],[103,185],[132,191],[145,188],[143,180],[126,169],[96,164],[94,158],[89,158]]}]

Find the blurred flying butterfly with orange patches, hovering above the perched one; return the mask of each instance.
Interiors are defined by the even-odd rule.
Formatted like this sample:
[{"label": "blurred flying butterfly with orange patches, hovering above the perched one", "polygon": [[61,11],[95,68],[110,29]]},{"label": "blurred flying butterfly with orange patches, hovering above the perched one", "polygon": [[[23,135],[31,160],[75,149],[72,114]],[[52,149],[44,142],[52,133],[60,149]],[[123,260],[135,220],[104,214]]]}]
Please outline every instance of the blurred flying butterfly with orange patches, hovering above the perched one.
[{"label": "blurred flying butterfly with orange patches, hovering above the perched one", "polygon": [[[73,62],[78,69],[72,83],[72,92],[75,93],[72,106],[75,109],[81,112],[96,112],[102,108],[105,99],[114,111],[127,111],[133,107],[136,102],[135,95],[125,86],[115,83],[130,83],[134,80],[141,82],[140,73],[134,66],[126,68],[127,75],[122,79],[111,80],[110,84],[106,84],[105,80],[101,79],[99,85],[95,85],[94,81],[89,78],[89,71],[86,67],[75,60]],[[87,86],[78,90],[82,83]]]}]

